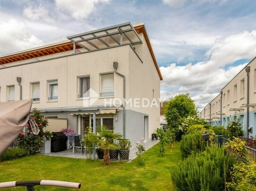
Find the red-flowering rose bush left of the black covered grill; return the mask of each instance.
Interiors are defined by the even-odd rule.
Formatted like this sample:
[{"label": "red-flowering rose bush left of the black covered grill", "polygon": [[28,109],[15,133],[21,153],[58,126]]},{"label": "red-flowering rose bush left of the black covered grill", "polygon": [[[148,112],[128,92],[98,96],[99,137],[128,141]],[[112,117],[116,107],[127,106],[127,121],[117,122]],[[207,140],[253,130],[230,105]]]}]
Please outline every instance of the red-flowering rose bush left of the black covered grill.
[{"label": "red-flowering rose bush left of the black covered grill", "polygon": [[[45,131],[43,128],[48,126],[47,119],[43,118],[40,111],[33,109],[33,113],[30,114],[34,121],[36,122],[38,128],[40,129],[38,135],[34,135],[31,127],[27,124],[25,128],[25,133],[21,132],[18,136],[18,147],[25,149],[29,154],[37,153],[43,146],[43,138],[45,137]],[[47,138],[49,138],[49,131],[46,132]]]}]

